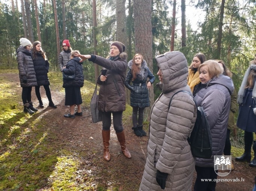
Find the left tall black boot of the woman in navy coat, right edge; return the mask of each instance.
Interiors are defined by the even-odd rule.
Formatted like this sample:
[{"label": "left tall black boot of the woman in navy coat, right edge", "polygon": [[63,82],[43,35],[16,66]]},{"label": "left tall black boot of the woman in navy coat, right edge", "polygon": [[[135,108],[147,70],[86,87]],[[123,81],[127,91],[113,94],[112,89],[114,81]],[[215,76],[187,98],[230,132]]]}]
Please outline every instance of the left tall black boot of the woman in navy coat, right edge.
[{"label": "left tall black boot of the woman in navy coat, right edge", "polygon": [[236,157],[236,161],[247,161],[250,163],[251,161],[251,145],[253,143],[253,133],[244,132],[244,154],[241,157]]}]

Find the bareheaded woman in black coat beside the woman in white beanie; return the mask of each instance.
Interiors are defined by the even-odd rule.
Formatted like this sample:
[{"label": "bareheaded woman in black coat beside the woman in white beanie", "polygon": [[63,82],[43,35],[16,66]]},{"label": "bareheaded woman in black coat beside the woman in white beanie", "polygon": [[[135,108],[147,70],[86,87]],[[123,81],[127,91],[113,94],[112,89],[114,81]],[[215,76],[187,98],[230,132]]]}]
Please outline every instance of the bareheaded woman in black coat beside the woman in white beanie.
[{"label": "bareheaded woman in black coat beside the woman in white beanie", "polygon": [[44,104],[42,102],[41,94],[40,94],[40,86],[44,86],[46,96],[49,100],[49,106],[53,108],[57,108],[54,105],[51,99],[51,90],[50,90],[50,81],[48,79],[48,71],[49,71],[49,61],[45,55],[44,50],[42,50],[42,44],[39,41],[35,41],[33,43],[32,49],[32,59],[33,64],[36,72],[36,81],[37,86],[35,87],[36,90],[36,97],[39,101],[39,107],[43,108]]}]

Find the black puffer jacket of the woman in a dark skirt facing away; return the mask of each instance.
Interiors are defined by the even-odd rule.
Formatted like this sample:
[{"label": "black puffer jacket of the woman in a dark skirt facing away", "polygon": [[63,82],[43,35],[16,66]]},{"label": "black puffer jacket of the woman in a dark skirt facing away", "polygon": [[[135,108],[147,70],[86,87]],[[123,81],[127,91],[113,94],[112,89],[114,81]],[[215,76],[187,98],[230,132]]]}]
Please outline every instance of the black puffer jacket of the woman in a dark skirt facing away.
[{"label": "black puffer jacket of the woman in a dark skirt facing away", "polygon": [[68,61],[66,68],[62,70],[63,73],[68,75],[75,74],[74,80],[63,80],[62,87],[83,87],[84,86],[84,76],[83,76],[83,62],[79,62],[81,59],[78,57],[72,58]]}]

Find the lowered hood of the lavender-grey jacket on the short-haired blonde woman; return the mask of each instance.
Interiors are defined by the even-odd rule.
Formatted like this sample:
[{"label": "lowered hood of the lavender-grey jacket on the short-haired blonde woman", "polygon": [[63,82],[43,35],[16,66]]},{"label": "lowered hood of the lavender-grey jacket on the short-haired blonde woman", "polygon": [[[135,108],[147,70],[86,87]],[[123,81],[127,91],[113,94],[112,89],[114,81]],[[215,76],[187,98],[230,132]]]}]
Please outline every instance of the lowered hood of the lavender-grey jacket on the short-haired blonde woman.
[{"label": "lowered hood of the lavender-grey jacket on the short-haired blonde woman", "polygon": [[219,77],[214,77],[211,80],[209,80],[207,83],[202,84],[202,87],[208,87],[214,84],[220,84],[225,86],[228,90],[230,95],[233,93],[234,91],[234,84],[233,81],[230,77],[228,76],[224,76],[223,74],[221,74]]}]

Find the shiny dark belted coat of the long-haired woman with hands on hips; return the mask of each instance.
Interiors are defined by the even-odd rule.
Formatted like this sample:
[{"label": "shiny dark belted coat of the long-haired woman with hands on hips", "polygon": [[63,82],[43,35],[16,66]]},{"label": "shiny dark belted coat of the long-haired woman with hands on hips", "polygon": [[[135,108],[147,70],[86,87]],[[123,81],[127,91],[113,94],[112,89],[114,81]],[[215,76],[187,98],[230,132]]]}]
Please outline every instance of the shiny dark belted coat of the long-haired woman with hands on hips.
[{"label": "shiny dark belted coat of the long-haired woman with hands on hips", "polygon": [[[150,83],[154,83],[155,81],[155,76],[151,73],[149,70],[147,63],[145,60],[143,60],[142,65],[141,65],[141,70],[140,73],[137,74],[136,79],[132,81],[133,74],[131,71],[131,67],[133,65],[133,60],[128,62],[128,67],[130,70],[127,73],[127,76],[125,78],[125,86],[131,90],[131,96],[130,96],[130,101],[131,101],[131,106],[132,107],[140,107],[140,108],[145,108],[149,107],[149,92],[148,92],[148,78]],[[130,84],[132,81],[133,84]]]}]

